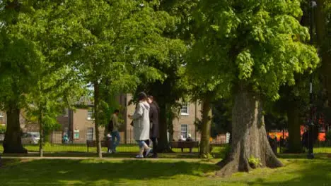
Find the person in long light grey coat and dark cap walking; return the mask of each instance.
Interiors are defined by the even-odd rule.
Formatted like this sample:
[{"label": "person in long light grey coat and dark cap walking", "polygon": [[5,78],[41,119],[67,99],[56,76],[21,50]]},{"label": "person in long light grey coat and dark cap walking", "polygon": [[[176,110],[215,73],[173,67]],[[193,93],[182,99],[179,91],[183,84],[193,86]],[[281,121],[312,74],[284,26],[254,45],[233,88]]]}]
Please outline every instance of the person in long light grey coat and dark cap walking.
[{"label": "person in long light grey coat and dark cap walking", "polygon": [[134,140],[139,144],[139,155],[136,156],[138,159],[144,158],[144,150],[146,150],[146,156],[149,155],[151,148],[146,144],[146,140],[149,140],[149,103],[147,102],[147,95],[144,92],[138,94],[139,103],[137,104],[134,115],[129,115],[129,118],[133,120],[134,127]]}]

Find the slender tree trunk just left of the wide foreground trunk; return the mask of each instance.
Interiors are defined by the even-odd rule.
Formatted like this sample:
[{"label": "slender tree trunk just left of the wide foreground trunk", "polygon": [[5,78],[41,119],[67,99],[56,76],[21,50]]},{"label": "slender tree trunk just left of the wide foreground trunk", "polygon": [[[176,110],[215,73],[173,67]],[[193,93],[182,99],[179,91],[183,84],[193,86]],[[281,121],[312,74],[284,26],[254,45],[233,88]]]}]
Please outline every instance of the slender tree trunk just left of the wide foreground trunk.
[{"label": "slender tree trunk just left of the wide foreground trunk", "polygon": [[209,156],[209,137],[211,128],[211,103],[210,96],[206,95],[202,103],[202,133],[200,143],[200,158],[207,158]]}]

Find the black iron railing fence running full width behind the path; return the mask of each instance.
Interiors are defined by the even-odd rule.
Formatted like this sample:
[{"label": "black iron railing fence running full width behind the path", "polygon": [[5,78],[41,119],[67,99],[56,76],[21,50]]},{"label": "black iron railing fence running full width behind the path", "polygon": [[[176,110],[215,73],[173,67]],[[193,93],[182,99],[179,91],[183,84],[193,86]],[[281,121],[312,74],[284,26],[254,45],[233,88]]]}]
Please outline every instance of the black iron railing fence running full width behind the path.
[{"label": "black iron railing fence running full width behind the path", "polygon": [[[192,134],[193,135],[192,135]],[[179,141],[179,137],[183,134],[181,131],[175,131],[173,137],[169,137],[169,141]],[[197,133],[195,134],[194,131],[187,132],[186,137],[188,137],[188,134],[191,134],[192,140],[199,142],[200,135]],[[178,137],[175,137],[175,136]],[[133,135],[132,135],[133,137]],[[3,137],[2,137],[3,138]],[[1,138],[1,139],[2,139]],[[170,140],[172,138],[172,140]],[[197,139],[197,140],[196,140]],[[93,139],[95,140],[95,139]],[[102,140],[105,140],[102,137]],[[221,152],[223,149],[225,149],[224,144],[228,144],[230,141],[229,134],[219,135],[218,137],[214,137],[210,139],[210,144],[213,147],[212,152],[218,153]],[[39,144],[38,142],[34,140],[23,140],[23,147],[25,149],[28,149],[29,152],[38,152],[39,151]],[[152,144],[152,143],[151,143]],[[272,143],[271,143],[272,144]],[[274,143],[272,146],[274,149],[277,150],[277,153],[286,153],[287,146],[286,140],[281,141],[281,139],[274,140]],[[89,147],[87,145],[87,140],[81,139],[81,140],[70,140],[69,138],[66,138],[62,135],[62,133],[57,133],[55,135],[52,135],[50,139],[47,140],[47,142],[44,143],[43,149],[45,152],[50,153],[86,153],[86,152],[95,152],[96,147]],[[303,153],[305,152],[306,148],[303,147]],[[3,151],[2,142],[0,140],[0,152]],[[103,147],[103,152],[107,152],[108,148]],[[137,153],[139,151],[139,147],[137,142],[135,142],[133,139],[125,139],[122,137],[121,142],[119,146],[117,147],[118,153]],[[173,148],[173,151],[175,152],[181,152],[181,149],[175,149]],[[183,149],[184,152],[190,152],[190,149]],[[192,153],[197,153],[199,151],[198,147],[192,148]],[[331,141],[325,140],[325,141],[318,141],[314,144],[314,153],[315,154],[331,154]]]}]

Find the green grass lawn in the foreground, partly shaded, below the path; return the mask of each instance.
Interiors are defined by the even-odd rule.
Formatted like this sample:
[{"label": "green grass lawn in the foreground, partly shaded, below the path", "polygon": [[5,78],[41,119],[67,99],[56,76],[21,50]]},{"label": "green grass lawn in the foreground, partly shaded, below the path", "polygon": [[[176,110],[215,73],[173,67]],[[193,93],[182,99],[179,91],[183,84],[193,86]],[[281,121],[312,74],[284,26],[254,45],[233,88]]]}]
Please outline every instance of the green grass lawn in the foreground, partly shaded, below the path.
[{"label": "green grass lawn in the foreground, partly shaded, below the path", "polygon": [[283,168],[218,178],[216,160],[4,160],[0,185],[331,185],[330,157],[281,161]]}]

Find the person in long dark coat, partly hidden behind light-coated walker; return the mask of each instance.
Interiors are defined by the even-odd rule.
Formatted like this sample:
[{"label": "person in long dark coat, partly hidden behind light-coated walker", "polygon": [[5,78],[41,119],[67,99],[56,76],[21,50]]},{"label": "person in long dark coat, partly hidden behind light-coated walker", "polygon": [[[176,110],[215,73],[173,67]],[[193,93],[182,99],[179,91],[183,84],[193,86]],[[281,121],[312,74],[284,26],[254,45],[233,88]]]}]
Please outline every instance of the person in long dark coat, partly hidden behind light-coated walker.
[{"label": "person in long dark coat, partly hidden behind light-coated walker", "polygon": [[158,147],[158,114],[160,112],[160,109],[158,108],[158,104],[156,101],[154,101],[153,96],[149,96],[148,98],[149,102],[149,121],[151,123],[151,131],[149,132],[149,137],[151,138],[151,141],[153,142],[153,158],[157,158],[158,154],[156,152],[156,149]]}]

